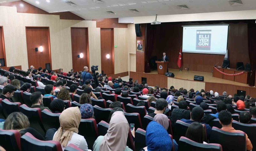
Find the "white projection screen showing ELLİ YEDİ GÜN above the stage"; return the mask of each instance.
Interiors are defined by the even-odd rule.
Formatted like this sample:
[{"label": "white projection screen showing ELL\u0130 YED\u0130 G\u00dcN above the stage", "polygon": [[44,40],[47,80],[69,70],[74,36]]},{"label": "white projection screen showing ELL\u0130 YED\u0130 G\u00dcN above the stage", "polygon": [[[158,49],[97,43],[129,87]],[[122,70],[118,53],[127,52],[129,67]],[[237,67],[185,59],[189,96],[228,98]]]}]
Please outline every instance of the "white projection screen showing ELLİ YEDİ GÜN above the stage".
[{"label": "white projection screen showing ELL\u0130 YED\u0130 G\u00dcN above the stage", "polygon": [[226,54],[228,24],[182,26],[182,52]]}]

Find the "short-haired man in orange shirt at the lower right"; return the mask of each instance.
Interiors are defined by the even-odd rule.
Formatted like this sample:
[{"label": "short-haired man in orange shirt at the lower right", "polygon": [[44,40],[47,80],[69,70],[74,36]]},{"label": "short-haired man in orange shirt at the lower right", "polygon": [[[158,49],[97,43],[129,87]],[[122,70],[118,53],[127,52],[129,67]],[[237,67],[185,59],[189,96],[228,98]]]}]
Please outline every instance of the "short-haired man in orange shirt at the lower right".
[{"label": "short-haired man in orange shirt at the lower right", "polygon": [[[233,121],[232,114],[229,111],[227,111],[227,110],[220,111],[219,122],[222,125],[221,130],[226,131],[226,132],[231,132],[231,133],[242,132],[239,130],[235,130],[232,127],[232,121]],[[252,147],[253,147],[252,143],[246,134],[246,149],[252,150]]]}]

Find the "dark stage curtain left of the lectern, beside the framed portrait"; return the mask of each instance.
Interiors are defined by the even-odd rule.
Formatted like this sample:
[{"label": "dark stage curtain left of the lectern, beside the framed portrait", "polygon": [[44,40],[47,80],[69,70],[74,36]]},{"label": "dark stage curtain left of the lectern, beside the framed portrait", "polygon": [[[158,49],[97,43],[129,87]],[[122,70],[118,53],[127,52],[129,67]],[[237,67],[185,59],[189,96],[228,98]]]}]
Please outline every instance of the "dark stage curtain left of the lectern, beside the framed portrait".
[{"label": "dark stage curtain left of the lectern, beside the framed portrait", "polygon": [[151,25],[151,24],[146,24],[146,43],[144,44],[145,47],[145,73],[150,73],[150,58],[152,55],[152,52],[155,48],[155,42],[156,42],[156,29],[157,25]]}]

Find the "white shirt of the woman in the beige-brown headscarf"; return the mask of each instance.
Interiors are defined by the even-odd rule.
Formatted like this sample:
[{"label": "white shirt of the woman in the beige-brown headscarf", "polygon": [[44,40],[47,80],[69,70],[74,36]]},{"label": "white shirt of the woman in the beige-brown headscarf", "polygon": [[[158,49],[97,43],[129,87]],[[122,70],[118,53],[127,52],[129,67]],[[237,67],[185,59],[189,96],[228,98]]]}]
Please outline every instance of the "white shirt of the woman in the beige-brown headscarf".
[{"label": "white shirt of the woman in the beige-brown headscarf", "polygon": [[[63,133],[64,133],[64,131],[63,131]],[[55,132],[55,134],[56,133],[57,132]],[[55,134],[54,134],[54,136],[55,136]],[[75,146],[77,146],[78,148],[80,148],[80,149],[82,149],[84,151],[92,151],[92,150],[88,149],[88,145],[87,145],[87,142],[86,142],[84,136],[79,135],[79,134],[77,134],[75,132],[73,132],[73,134],[71,136],[71,139],[68,141],[66,146],[68,146],[69,144],[74,144]],[[62,150],[65,150],[65,148],[66,148],[66,147],[64,147],[62,145],[61,145],[61,147],[62,147]]]}]

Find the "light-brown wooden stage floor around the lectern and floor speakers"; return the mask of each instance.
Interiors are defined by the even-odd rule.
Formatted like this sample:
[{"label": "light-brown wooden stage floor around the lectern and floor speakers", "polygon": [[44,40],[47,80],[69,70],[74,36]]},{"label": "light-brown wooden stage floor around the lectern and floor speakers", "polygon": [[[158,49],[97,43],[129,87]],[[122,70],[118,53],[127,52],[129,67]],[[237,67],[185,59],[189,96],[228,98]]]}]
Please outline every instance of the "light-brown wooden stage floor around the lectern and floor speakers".
[{"label": "light-brown wooden stage floor around the lectern and floor speakers", "polygon": [[[169,72],[174,73],[174,78],[184,79],[184,80],[194,80],[194,75],[201,75],[204,77],[204,82],[214,82],[214,83],[224,83],[232,84],[237,86],[249,86],[248,84],[243,84],[239,82],[224,80],[220,78],[213,77],[213,73],[208,72],[197,72],[197,71],[187,71],[187,70],[178,70],[178,69],[168,69]],[[149,74],[157,74],[157,70],[151,70]]]}]

